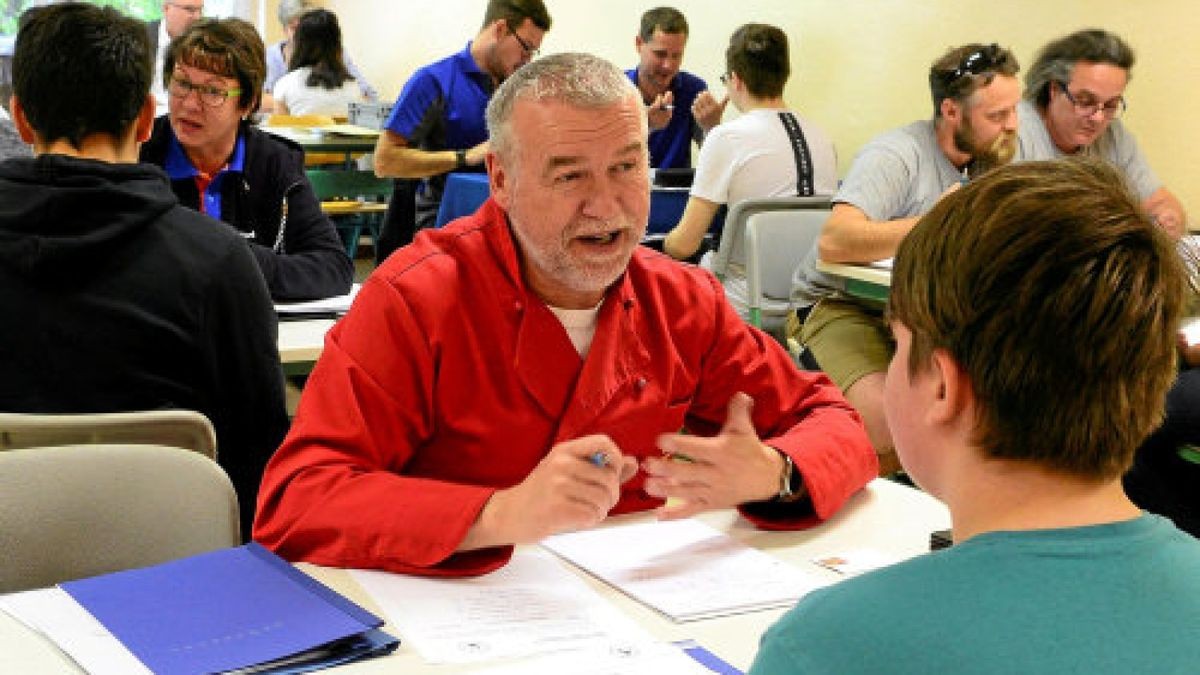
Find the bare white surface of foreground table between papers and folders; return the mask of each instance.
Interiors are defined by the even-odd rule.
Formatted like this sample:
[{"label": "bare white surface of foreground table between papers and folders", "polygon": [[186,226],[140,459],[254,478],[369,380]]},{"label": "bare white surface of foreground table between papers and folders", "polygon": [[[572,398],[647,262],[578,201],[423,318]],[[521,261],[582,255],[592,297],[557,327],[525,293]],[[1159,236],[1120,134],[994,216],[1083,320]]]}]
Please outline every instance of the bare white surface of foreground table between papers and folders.
[{"label": "bare white surface of foreground table between papers and folders", "polygon": [[[644,519],[646,514],[614,519]],[[832,579],[838,575],[817,567],[811,558],[848,552],[856,548],[872,548],[898,556],[910,556],[929,550],[929,534],[949,527],[946,508],[932,497],[883,479],[876,479],[856,495],[828,522],[799,532],[767,532],[732,510],[716,512],[702,518],[732,537],[757,549],[776,555],[797,566],[805,566]],[[332,586],[353,601],[379,614],[378,608],[344,569],[301,565],[302,569]],[[572,568],[574,569],[574,568]],[[629,615],[661,640],[695,639],[736,668],[746,670],[758,649],[758,638],[785,610],[775,609],[689,623],[672,623],[653,610],[625,597],[607,585],[582,575],[604,598]],[[403,635],[401,635],[403,640]],[[407,643],[386,657],[352,663],[335,669],[347,674],[440,674],[469,673],[481,665],[431,665]],[[0,613],[0,673],[48,674],[79,673],[58,649],[41,635]]]}]

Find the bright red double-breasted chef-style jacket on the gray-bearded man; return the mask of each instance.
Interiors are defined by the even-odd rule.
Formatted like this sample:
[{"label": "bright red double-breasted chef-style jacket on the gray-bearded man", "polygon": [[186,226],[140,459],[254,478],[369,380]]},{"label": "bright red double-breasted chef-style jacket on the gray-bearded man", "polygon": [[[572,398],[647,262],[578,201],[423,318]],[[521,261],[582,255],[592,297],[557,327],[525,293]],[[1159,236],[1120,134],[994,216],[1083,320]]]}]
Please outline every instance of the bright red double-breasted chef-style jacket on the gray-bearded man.
[{"label": "bright red double-breasted chef-style jacket on the gray-bearded man", "polygon": [[[875,476],[838,389],[798,371],[698,268],[638,247],[582,359],[522,281],[504,211],[488,201],[389,257],[330,330],[266,468],[254,539],[319,565],[490,572],[510,546],[455,549],[491,495],[552,446],[606,434],[625,454],[658,455],[660,434],[716,434],[737,392],[811,497],[743,508],[757,525],[811,525]],[[613,513],[662,503],[643,478],[623,485]]]}]

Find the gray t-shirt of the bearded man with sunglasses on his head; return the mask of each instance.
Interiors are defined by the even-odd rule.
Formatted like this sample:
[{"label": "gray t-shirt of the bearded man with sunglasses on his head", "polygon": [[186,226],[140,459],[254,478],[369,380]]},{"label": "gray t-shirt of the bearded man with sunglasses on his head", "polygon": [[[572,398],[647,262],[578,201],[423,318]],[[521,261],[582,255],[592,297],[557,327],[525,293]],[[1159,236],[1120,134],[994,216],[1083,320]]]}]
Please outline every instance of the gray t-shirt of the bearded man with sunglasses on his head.
[{"label": "gray t-shirt of the bearded man with sunglasses on his head", "polygon": [[[914,121],[864,145],[833,201],[858,207],[875,221],[919,216],[960,178],[937,144],[934,121]],[[808,306],[841,289],[841,280],[817,271],[814,246],[796,269],[792,301]]]}]

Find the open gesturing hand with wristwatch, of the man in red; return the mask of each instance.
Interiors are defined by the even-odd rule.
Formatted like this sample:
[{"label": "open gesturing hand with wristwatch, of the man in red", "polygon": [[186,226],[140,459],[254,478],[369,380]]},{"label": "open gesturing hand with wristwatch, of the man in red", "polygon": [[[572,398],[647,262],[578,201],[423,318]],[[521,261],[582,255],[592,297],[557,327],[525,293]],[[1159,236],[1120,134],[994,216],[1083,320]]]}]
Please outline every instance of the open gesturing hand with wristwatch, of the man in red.
[{"label": "open gesturing hand with wristwatch, of the man in red", "polygon": [[779,494],[784,458],[758,440],[744,393],[730,399],[730,412],[720,434],[712,437],[664,434],[658,444],[666,456],[648,458],[646,492],[671,500],[658,510],[661,519],[690,518],[697,513],[744,502],[769,500]]}]

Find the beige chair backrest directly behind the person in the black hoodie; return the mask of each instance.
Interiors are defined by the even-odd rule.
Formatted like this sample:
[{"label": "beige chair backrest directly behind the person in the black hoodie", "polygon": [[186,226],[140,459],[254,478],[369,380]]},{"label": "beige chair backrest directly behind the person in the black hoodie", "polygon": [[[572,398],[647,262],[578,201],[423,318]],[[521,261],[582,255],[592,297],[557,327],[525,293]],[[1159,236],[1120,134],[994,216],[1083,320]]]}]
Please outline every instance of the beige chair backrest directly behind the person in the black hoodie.
[{"label": "beige chair backrest directly behind the person in the black hoodie", "polygon": [[212,423],[190,410],[82,414],[0,412],[0,450],[82,443],[170,446],[217,456]]}]

